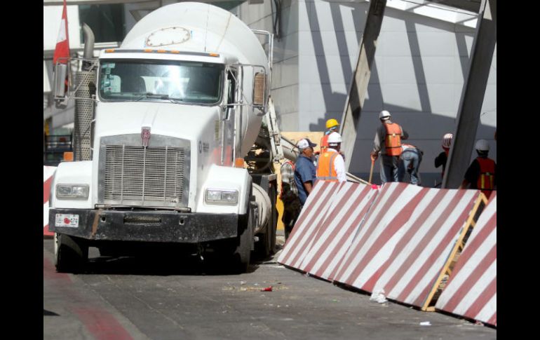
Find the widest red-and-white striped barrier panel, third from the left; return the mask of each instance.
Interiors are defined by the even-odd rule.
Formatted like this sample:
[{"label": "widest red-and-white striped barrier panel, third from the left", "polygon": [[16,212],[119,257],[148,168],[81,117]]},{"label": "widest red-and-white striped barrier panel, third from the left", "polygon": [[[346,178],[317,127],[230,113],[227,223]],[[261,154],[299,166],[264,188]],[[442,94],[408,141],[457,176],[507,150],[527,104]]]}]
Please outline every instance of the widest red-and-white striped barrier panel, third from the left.
[{"label": "widest red-and-white striped barrier panel, third from the left", "polygon": [[479,195],[384,184],[335,281],[422,306]]}]

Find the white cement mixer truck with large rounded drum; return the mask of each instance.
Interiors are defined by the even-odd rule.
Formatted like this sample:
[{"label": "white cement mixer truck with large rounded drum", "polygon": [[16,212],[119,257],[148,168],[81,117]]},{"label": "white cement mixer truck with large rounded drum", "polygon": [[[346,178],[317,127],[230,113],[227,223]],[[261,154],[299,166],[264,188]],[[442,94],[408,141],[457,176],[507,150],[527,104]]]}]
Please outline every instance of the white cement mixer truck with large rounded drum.
[{"label": "white cement mixer truck with large rounded drum", "polygon": [[89,246],[120,254],[180,244],[217,252],[238,271],[252,251],[273,251],[266,38],[265,52],[228,11],[182,2],[85,60],[74,91],[62,81],[69,67],[56,65],[55,99],[79,100],[75,159],[58,165],[50,195],[58,271],[78,271]]}]

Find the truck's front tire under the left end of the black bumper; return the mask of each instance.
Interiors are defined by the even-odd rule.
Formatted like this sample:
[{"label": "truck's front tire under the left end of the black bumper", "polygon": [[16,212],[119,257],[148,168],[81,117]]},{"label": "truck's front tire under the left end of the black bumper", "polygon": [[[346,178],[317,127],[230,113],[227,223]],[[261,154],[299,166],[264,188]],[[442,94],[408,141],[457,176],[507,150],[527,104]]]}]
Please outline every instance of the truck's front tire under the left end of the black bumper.
[{"label": "truck's front tire under the left end of the black bumper", "polygon": [[88,261],[88,245],[79,238],[55,233],[55,267],[59,273],[81,271]]}]

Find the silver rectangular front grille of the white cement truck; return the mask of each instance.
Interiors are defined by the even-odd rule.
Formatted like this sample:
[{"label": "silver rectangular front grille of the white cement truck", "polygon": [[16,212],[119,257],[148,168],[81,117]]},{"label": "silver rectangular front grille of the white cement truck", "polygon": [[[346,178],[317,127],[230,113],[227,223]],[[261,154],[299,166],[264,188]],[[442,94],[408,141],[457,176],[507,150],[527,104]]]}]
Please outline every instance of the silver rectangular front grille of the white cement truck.
[{"label": "silver rectangular front grille of the white cement truck", "polygon": [[104,203],[184,205],[185,161],[180,147],[104,145]]}]

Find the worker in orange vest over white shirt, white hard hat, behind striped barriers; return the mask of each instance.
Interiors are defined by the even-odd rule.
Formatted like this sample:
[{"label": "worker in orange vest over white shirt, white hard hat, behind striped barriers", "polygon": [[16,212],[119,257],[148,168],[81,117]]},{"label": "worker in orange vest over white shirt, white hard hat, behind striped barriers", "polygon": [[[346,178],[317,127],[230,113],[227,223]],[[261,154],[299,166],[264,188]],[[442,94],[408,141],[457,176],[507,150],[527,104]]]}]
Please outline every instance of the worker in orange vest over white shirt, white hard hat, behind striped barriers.
[{"label": "worker in orange vest over white shirt, white hard hat, behind striped barriers", "polygon": [[345,161],[339,149],[342,145],[342,136],[337,132],[328,135],[328,149],[324,154],[320,154],[317,163],[317,179],[330,182],[345,182]]}]

